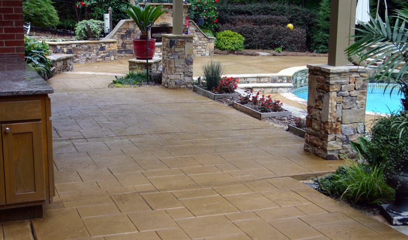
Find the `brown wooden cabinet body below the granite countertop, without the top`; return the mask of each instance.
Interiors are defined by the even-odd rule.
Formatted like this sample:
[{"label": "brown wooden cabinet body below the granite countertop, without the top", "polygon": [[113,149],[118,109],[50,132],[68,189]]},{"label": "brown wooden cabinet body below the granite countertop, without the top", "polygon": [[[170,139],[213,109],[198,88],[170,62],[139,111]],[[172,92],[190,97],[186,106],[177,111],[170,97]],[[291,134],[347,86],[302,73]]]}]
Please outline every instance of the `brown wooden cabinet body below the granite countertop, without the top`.
[{"label": "brown wooden cabinet body below the granite countertop, without the top", "polygon": [[0,97],[0,209],[51,203],[50,116],[47,94]]}]

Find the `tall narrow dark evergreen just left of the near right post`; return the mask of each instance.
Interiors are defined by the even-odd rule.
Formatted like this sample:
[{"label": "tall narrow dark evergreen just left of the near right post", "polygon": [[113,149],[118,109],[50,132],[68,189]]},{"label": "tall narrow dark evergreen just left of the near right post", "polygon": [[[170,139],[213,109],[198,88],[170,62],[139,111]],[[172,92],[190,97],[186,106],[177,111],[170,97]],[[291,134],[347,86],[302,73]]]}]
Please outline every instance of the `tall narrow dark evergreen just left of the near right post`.
[{"label": "tall narrow dark evergreen just left of the near right post", "polygon": [[330,2],[331,0],[320,2],[316,25],[312,28],[311,50],[316,50],[318,53],[329,51]]}]

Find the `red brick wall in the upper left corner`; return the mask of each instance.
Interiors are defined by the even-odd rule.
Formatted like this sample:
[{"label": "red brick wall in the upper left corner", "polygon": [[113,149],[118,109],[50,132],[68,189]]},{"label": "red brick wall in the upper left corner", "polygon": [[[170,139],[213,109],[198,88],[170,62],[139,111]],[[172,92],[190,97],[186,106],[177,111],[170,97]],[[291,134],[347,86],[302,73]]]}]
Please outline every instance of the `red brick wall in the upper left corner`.
[{"label": "red brick wall in the upper left corner", "polygon": [[22,0],[0,1],[0,57],[24,58]]}]

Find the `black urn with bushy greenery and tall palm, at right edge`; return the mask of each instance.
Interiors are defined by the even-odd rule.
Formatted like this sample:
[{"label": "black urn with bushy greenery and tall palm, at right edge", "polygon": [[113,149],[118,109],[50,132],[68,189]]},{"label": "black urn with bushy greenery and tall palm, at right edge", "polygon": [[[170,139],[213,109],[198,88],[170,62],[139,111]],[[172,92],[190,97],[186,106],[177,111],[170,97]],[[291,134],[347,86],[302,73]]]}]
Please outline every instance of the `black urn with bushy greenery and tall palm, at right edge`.
[{"label": "black urn with bushy greenery and tall palm, at right edge", "polygon": [[[385,23],[381,17],[378,21],[371,17],[369,23],[356,29],[358,40],[346,52],[374,66],[373,80],[397,84],[402,93],[402,110],[376,120],[371,139],[364,144],[360,139],[360,146],[367,146],[365,152],[372,164],[385,165],[387,183],[395,189],[395,201],[382,205],[382,214],[393,225],[408,225],[408,8],[397,10],[390,18],[393,26],[387,14]],[[383,63],[375,65],[381,59]]]}]

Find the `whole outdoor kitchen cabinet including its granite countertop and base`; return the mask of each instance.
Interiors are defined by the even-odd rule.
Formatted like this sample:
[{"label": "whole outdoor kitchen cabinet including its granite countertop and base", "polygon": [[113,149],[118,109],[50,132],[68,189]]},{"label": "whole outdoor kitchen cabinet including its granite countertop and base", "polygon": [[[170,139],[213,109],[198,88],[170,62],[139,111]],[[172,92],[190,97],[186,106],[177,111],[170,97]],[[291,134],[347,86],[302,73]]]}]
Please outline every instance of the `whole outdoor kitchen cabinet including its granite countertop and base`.
[{"label": "whole outdoor kitchen cabinet including its granite countertop and base", "polygon": [[[1,62],[4,68],[13,61]],[[42,205],[55,195],[48,95],[54,89],[23,60],[15,62],[0,70],[0,222],[42,217]]]}]

